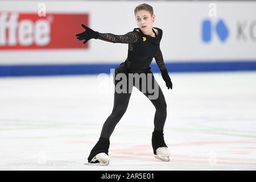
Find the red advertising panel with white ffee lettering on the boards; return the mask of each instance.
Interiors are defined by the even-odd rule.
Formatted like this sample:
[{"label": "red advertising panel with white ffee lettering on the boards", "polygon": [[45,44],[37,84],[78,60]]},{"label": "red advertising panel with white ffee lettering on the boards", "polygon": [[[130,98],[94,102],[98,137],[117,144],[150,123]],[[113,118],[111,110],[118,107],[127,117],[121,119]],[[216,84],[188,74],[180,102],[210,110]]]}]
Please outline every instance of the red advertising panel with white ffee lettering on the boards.
[{"label": "red advertising panel with white ffee lettering on the boards", "polygon": [[88,14],[0,13],[0,51],[6,49],[85,48],[76,39]]}]

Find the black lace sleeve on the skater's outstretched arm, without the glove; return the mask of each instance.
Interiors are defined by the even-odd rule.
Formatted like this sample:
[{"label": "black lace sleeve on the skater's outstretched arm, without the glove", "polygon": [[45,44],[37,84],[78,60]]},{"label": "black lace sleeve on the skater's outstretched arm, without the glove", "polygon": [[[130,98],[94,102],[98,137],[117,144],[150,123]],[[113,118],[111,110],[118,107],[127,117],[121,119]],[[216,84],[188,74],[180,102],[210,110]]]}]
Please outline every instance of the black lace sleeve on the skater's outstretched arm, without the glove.
[{"label": "black lace sleeve on the skater's outstretched arm, without the glove", "polygon": [[136,32],[128,32],[125,35],[114,35],[110,33],[99,33],[98,39],[112,42],[112,43],[136,43],[139,39],[139,35]]}]

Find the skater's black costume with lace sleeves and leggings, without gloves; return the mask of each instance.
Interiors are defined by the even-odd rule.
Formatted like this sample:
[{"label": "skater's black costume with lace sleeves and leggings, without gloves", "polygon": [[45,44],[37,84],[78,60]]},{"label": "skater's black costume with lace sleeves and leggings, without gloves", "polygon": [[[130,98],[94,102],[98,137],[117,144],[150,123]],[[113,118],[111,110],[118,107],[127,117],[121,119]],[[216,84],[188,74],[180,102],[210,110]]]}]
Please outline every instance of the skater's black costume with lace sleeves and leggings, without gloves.
[{"label": "skater's black costume with lace sleeves and leggings, without gloves", "polygon": [[[167,72],[167,69],[164,65],[163,55],[160,50],[160,41],[162,39],[163,31],[160,28],[154,27],[158,30],[158,35],[152,29],[155,34],[155,37],[145,35],[139,28],[134,28],[133,31],[128,32],[125,35],[114,35],[110,33],[102,34],[98,32],[98,39],[112,42],[112,43],[126,43],[128,44],[128,55],[127,59],[121,63],[118,67],[115,68],[115,74],[117,73],[151,73],[150,64],[152,59],[155,58],[158,67],[161,72]],[[147,78],[148,79],[148,78]],[[158,86],[155,78],[152,74],[152,85]],[[116,85],[118,81],[115,81]],[[154,84],[156,82],[156,84]],[[140,87],[138,88],[141,90]],[[167,105],[164,99],[162,90],[159,89],[159,96],[155,100],[150,100],[155,106],[155,117],[154,117],[154,132],[152,133],[152,147],[155,154],[157,147],[166,147],[166,144],[163,140],[163,127],[166,121],[167,115]],[[143,93],[145,96],[149,96],[150,93]],[[123,114],[127,109],[129,104],[131,93],[114,93],[114,106],[113,111],[106,119],[104,126],[102,127],[101,136],[97,144],[93,147],[90,155],[88,157],[88,162],[90,162],[96,154],[104,152],[108,154],[109,149],[109,138],[113,133],[115,126],[122,118]]]}]

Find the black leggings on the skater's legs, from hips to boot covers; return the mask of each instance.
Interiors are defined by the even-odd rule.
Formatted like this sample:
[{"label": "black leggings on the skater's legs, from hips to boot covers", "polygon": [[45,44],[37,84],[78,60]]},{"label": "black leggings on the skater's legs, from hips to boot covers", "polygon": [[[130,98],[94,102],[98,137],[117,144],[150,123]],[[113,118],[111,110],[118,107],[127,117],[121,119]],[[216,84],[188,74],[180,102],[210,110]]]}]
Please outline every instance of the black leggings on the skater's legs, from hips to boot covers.
[{"label": "black leggings on the skater's legs, from hips to boot covers", "polygon": [[[117,72],[115,72],[116,74]],[[154,118],[154,127],[155,130],[163,130],[164,128],[164,123],[166,121],[166,115],[167,115],[167,111],[166,111],[166,100],[164,99],[164,95],[162,90],[160,89],[160,86],[158,85],[158,83],[155,80],[154,75],[152,74],[152,72],[148,72],[147,74],[151,74],[151,78],[146,77],[147,81],[148,79],[151,79],[152,81],[152,88],[155,88],[155,86],[158,87],[158,97],[155,99],[150,99],[150,101],[152,102],[152,104],[155,106],[155,118]],[[114,75],[115,78],[115,75]],[[117,82],[114,79],[114,84],[115,84],[115,88],[117,86]],[[135,84],[136,81],[133,80],[133,85],[139,89],[142,93],[144,91],[142,91],[142,81],[139,80],[139,88],[138,85]],[[127,83],[128,83],[128,79],[127,79]],[[132,90],[133,86],[131,86],[131,90]],[[152,96],[152,92],[148,92],[148,90],[146,90],[146,93],[143,93],[145,96]],[[116,90],[114,92],[114,107],[112,110],[112,113],[109,115],[109,117],[106,119],[103,127],[102,127],[102,131],[101,131],[101,137],[104,138],[110,138],[110,135],[112,135],[115,126],[117,125],[117,123],[120,121],[120,119],[123,117],[123,114],[125,114],[125,111],[127,109],[127,106],[129,104],[129,100],[130,100],[130,96],[131,96],[131,92],[127,92],[127,93],[117,93]],[[151,97],[152,98],[152,97]]]}]

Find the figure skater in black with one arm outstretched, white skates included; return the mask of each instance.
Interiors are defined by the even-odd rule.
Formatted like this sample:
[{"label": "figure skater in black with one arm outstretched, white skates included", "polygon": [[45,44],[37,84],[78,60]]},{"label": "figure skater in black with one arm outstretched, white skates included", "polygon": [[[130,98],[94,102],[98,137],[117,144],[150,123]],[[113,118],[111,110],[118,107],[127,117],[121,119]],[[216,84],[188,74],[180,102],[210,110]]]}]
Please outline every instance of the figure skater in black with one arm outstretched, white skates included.
[{"label": "figure skater in black with one arm outstretched, white skates included", "polygon": [[[170,151],[168,150],[163,137],[163,128],[167,116],[166,100],[160,86],[156,82],[150,70],[150,64],[154,57],[163,80],[166,82],[167,88],[172,89],[171,78],[164,65],[163,55],[160,50],[160,41],[162,39],[163,31],[158,27],[152,27],[152,24],[155,21],[155,14],[152,6],[143,3],[134,9],[134,14],[139,28],[134,28],[133,31],[127,32],[125,35],[100,33],[93,31],[84,24],[82,24],[82,27],[85,28],[85,31],[76,35],[77,39],[84,40],[84,44],[90,39],[100,39],[111,43],[129,44],[126,60],[115,68],[113,80],[115,85],[113,111],[102,127],[100,139],[90,152],[88,163],[86,163],[88,165],[106,166],[109,164],[110,158],[108,151],[110,135],[113,133],[115,126],[120,121],[123,114],[125,114],[131,96],[130,88],[128,88],[129,92],[117,92],[117,85],[120,81],[116,79],[116,76],[119,73],[125,74],[127,77],[130,76],[131,73],[138,73],[140,75],[146,74],[147,84],[151,82],[154,85],[154,88],[158,88],[158,97],[150,99],[156,109],[154,117],[154,131],[152,132],[151,139],[152,149],[155,154],[155,158],[167,162],[170,161]],[[126,81],[127,84],[131,84],[131,81],[128,78]],[[138,83],[138,81],[135,82]],[[142,92],[142,85],[144,82],[139,80],[139,86],[135,82],[132,80],[132,85]],[[123,86],[123,88],[127,89],[125,86]],[[151,95],[148,90],[143,92],[143,94],[148,98]]]}]

